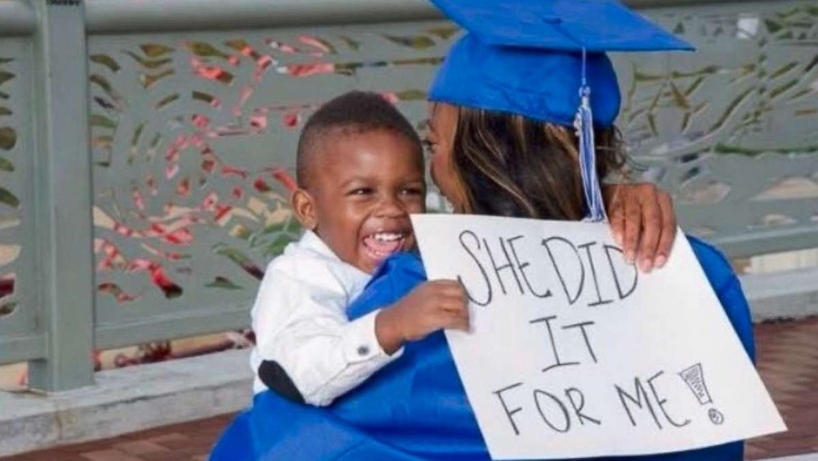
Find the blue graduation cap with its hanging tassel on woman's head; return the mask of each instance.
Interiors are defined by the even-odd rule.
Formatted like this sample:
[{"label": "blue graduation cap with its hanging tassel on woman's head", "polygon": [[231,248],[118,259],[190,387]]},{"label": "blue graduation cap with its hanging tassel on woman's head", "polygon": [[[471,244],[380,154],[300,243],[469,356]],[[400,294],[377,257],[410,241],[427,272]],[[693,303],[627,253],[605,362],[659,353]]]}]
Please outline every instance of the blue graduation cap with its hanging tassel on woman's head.
[{"label": "blue graduation cap with its hanging tassel on woman's head", "polygon": [[619,113],[607,51],[692,50],[613,0],[431,0],[468,32],[449,51],[429,99],[574,126],[589,219],[605,220],[593,126]]}]

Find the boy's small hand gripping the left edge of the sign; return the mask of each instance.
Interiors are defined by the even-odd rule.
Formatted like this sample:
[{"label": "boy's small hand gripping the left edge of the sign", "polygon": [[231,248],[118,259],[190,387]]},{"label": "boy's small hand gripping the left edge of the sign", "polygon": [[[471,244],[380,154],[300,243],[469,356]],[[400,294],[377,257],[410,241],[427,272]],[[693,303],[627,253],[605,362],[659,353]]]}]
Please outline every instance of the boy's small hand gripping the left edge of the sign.
[{"label": "boy's small hand gripping the left edge of the sign", "polygon": [[375,318],[375,335],[389,355],[406,341],[423,339],[441,328],[469,330],[468,296],[460,282],[421,283]]}]

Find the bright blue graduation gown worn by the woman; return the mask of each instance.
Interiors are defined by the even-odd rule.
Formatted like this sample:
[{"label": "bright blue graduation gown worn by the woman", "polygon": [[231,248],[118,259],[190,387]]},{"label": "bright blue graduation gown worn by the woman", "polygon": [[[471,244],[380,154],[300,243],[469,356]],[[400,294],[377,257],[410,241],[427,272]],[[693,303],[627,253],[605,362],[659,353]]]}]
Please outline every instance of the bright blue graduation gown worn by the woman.
[{"label": "bright blue graduation gown worn by the woman", "polygon": [[[730,264],[714,247],[688,237],[704,273],[738,333],[754,356],[747,301]],[[348,307],[357,319],[392,304],[426,279],[416,255],[386,260],[366,290]],[[615,461],[740,461],[743,442],[700,450]],[[227,427],[211,454],[231,460],[479,461],[490,459],[466,400],[443,332],[407,344],[400,359],[333,405],[296,404],[273,391],[255,395],[253,405]],[[614,458],[611,458],[614,459]]]}]

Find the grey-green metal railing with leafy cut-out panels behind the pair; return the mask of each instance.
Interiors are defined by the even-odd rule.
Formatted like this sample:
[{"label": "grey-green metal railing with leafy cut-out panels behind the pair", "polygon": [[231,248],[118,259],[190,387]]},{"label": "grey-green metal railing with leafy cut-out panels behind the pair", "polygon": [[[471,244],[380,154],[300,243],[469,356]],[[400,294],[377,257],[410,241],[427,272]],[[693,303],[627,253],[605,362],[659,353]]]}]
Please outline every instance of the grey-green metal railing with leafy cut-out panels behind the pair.
[{"label": "grey-green metal railing with leafy cut-out panels behind the pair", "polygon": [[[818,2],[629,4],[699,48],[614,56],[636,174],[731,256],[818,246]],[[303,120],[364,88],[423,129],[458,34],[425,0],[0,0],[0,363],[67,389],[246,328]]]}]

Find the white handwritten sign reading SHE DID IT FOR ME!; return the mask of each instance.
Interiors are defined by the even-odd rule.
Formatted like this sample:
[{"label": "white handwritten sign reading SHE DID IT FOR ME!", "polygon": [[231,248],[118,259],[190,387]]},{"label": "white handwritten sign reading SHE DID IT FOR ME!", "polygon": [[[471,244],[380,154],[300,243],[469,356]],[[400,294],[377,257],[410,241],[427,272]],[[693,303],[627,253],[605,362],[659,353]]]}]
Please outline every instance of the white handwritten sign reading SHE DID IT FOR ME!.
[{"label": "white handwritten sign reading SHE DID IT FOR ME!", "polygon": [[655,454],[786,429],[687,239],[645,274],[605,224],[412,223],[429,279],[469,293],[471,332],[447,339],[492,458]]}]

